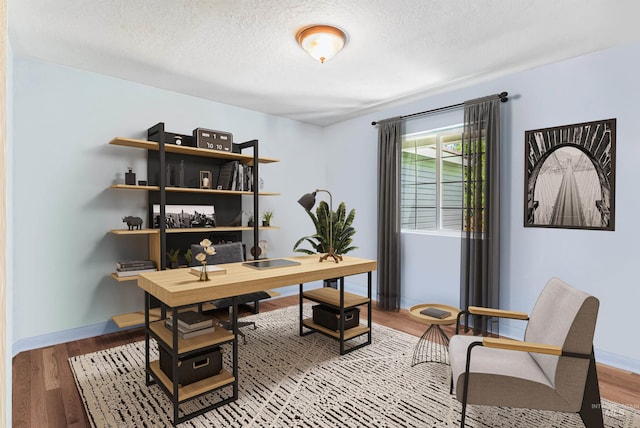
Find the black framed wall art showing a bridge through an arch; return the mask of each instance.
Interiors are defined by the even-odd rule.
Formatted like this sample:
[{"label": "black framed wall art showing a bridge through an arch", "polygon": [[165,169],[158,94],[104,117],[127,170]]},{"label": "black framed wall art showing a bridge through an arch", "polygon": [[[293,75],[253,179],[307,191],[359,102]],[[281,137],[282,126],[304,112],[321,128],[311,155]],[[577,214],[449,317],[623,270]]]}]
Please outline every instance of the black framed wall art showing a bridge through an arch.
[{"label": "black framed wall art showing a bridge through an arch", "polygon": [[615,230],[616,119],[525,131],[525,227]]}]

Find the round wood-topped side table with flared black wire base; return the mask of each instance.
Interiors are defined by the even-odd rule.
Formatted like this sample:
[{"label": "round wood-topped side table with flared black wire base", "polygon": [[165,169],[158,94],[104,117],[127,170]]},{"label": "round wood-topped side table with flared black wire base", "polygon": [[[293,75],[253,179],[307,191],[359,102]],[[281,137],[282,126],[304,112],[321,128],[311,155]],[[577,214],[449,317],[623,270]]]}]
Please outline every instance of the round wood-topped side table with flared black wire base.
[{"label": "round wood-topped side table with flared black wire base", "polygon": [[[427,308],[451,312],[451,315],[445,318],[434,318],[420,313],[420,311]],[[441,305],[439,303],[422,303],[412,306],[409,309],[409,316],[411,318],[429,325],[429,328],[427,328],[422,337],[420,337],[413,351],[411,367],[420,363],[449,364],[449,338],[440,326],[455,324],[459,312],[460,309],[458,308]]]}]

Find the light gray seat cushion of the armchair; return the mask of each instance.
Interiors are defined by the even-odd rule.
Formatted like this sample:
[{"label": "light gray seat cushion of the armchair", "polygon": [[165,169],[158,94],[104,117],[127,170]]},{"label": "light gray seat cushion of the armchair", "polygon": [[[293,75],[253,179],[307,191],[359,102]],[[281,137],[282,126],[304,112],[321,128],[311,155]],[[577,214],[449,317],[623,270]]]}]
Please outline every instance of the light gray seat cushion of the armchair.
[{"label": "light gray seat cushion of the armchair", "polygon": [[[462,401],[467,348],[482,337],[456,335],[449,344],[456,398]],[[553,388],[528,352],[476,346],[471,351],[469,404],[576,411]]]}]

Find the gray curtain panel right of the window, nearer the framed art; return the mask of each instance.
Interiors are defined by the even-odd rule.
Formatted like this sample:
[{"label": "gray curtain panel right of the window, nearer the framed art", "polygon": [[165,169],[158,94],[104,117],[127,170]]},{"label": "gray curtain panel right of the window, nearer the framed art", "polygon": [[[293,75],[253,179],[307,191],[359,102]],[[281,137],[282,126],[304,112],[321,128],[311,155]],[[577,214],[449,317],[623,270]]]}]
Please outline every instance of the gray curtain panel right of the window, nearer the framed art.
[{"label": "gray curtain panel right of the window, nearer the framed art", "polygon": [[[464,103],[460,307],[498,308],[500,299],[500,99]],[[465,321],[468,327],[469,320]],[[498,334],[498,319],[471,320]]]}]

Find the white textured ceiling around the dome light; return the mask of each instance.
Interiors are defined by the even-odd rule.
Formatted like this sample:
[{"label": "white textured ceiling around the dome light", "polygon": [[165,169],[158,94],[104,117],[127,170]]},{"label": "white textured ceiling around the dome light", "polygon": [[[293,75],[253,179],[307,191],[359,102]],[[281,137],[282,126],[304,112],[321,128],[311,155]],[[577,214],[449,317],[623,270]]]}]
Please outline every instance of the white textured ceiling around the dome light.
[{"label": "white textured ceiling around the dome light", "polygon": [[[9,0],[16,55],[328,125],[640,40],[637,0]],[[295,33],[345,30],[325,64]]]}]

